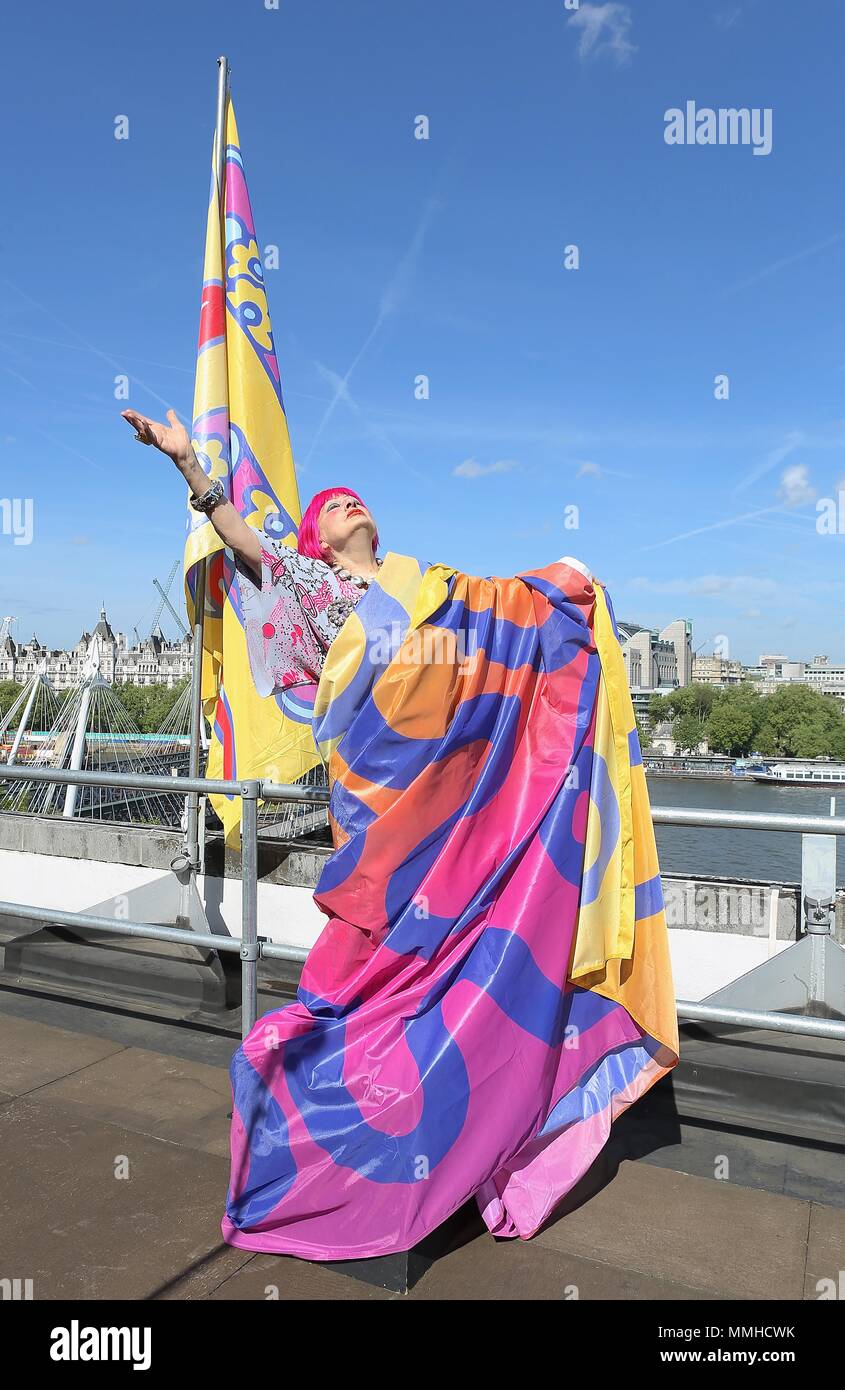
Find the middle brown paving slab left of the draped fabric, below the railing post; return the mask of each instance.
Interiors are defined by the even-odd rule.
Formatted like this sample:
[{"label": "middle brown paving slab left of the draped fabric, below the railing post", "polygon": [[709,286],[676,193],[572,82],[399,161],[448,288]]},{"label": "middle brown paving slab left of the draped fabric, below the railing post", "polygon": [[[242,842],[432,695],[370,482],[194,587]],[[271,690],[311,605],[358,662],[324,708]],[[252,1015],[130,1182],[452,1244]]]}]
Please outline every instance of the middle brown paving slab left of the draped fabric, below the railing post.
[{"label": "middle brown paving slab left of the draped fabric, below the railing post", "polygon": [[136,1134],[229,1155],[232,1088],[222,1066],[132,1047],[44,1086],[39,1099]]}]

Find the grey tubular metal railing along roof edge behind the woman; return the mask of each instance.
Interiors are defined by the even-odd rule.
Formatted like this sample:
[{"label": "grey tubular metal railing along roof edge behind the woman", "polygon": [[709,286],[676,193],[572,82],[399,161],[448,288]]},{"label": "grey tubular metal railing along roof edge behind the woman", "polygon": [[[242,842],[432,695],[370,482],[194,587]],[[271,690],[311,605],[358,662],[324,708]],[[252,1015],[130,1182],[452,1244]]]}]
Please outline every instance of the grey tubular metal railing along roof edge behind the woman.
[{"label": "grey tubular metal railing along roof edge behind the woman", "polygon": [[[240,887],[242,887],[242,929],[240,937],[217,935],[183,930],[181,927],[156,927],[146,922],[113,922],[88,912],[64,912],[58,908],[36,908],[17,902],[1,902],[0,913],[32,922],[49,922],[60,926],[86,927],[95,931],[110,931],[128,937],[150,937],[157,941],[178,941],[185,945],[208,947],[213,951],[238,952],[240,956],[240,1033],[242,1037],[253,1027],[257,1017],[259,959],[286,960],[302,965],[309,951],[304,947],[279,947],[271,941],[259,940],[259,799],[279,802],[313,802],[327,805],[329,792],[322,787],[282,784],[249,778],[245,781],[214,777],[168,777],[146,773],[81,771],[68,769],[0,764],[0,778],[6,781],[51,781],[71,785],[129,787],[133,790],[161,791],[174,795],[240,796],[243,801],[240,826]],[[705,826],[724,830],[777,830],[792,834],[845,835],[842,816],[792,816],[788,813],[767,815],[766,812],[698,810],[688,806],[653,806],[652,820],[656,826]],[[193,865],[192,867],[199,867]],[[692,999],[677,1001],[678,1017],[689,1022],[727,1023],[738,1027],[771,1029],[780,1033],[795,1033],[806,1037],[835,1038],[845,1041],[845,1023],[834,1019],[820,1019],[794,1013],[773,1013],[755,1009],[728,1009],[696,1004]]]}]

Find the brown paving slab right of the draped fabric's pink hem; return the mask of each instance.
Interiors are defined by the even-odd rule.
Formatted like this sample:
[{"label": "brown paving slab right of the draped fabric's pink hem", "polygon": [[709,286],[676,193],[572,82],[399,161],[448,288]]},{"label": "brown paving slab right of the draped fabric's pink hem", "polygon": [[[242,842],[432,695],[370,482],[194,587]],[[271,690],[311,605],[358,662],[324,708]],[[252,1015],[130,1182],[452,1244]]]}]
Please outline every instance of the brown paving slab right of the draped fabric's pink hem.
[{"label": "brown paving slab right of the draped fabric's pink hem", "polygon": [[586,1175],[535,1240],[725,1297],[803,1295],[809,1202],[630,1161],[589,1193]]}]

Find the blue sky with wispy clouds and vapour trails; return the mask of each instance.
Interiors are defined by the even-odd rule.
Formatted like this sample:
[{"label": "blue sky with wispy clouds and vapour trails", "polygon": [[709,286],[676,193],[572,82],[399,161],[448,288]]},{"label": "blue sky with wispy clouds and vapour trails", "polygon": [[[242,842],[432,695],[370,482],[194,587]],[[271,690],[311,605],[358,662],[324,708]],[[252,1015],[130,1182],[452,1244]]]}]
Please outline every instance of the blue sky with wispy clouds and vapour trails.
[{"label": "blue sky with wispy clouds and vapour trails", "polygon": [[[82,0],[4,32],[17,637],[71,644],[103,598],[143,634],[174,560],[183,607],[185,486],[114,377],[190,418],[225,51],[303,502],[356,486],[382,549],[473,574],[575,555],[702,651],[845,659],[838,0]],[[771,152],[668,146],[687,101],[770,108]]]}]

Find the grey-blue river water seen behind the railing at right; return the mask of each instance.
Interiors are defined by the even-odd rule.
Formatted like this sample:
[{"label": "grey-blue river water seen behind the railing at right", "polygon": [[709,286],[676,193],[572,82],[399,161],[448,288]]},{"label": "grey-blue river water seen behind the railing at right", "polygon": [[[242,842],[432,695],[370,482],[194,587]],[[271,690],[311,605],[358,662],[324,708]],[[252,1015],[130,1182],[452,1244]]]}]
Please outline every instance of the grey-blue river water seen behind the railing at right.
[{"label": "grey-blue river water seen behind the railing at right", "polygon": [[[649,777],[648,785],[652,806],[830,816],[830,799],[835,796],[837,815],[845,816],[845,788],[771,787],[742,777]],[[799,834],[700,826],[656,826],[655,833],[660,867],[667,873],[801,883]],[[845,885],[842,835],[837,847],[837,884]]]}]

